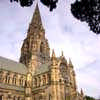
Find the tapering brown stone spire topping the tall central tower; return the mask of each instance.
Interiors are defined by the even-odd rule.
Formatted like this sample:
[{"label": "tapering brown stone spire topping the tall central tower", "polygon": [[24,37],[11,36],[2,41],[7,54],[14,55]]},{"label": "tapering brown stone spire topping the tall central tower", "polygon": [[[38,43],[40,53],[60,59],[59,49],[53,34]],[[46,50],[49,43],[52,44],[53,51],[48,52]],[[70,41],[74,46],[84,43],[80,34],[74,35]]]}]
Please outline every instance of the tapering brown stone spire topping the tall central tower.
[{"label": "tapering brown stone spire topping the tall central tower", "polygon": [[44,29],[42,26],[42,20],[41,20],[41,16],[40,16],[40,10],[39,10],[39,6],[38,3],[36,5],[35,8],[35,12],[33,14],[31,23],[29,25],[29,29],[28,29],[28,36],[32,35],[34,33],[41,33],[44,34]]}]

